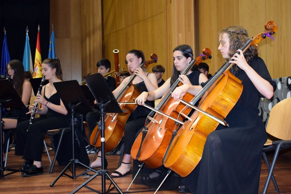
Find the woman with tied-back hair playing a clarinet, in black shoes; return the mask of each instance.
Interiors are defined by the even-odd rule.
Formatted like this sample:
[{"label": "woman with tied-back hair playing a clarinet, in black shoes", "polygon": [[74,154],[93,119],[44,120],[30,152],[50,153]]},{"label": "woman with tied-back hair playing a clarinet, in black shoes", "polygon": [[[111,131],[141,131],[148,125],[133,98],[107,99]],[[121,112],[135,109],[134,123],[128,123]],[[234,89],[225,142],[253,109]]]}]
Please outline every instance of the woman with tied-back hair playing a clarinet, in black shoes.
[{"label": "woman with tied-back hair playing a clarinet, in black shoes", "polygon": [[[35,118],[28,132],[26,130],[29,120],[19,123],[16,127],[15,155],[23,156],[25,159],[24,165],[20,168],[22,176],[43,174],[41,158],[46,132],[69,126],[68,111],[53,84],[63,81],[59,59],[45,59],[42,62],[42,75],[49,83],[42,87],[41,94],[36,96],[35,101],[41,104],[36,113],[44,116]],[[29,109],[32,110],[33,107],[30,106]]]}]

